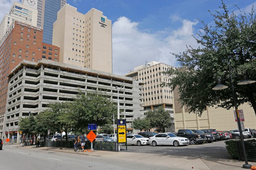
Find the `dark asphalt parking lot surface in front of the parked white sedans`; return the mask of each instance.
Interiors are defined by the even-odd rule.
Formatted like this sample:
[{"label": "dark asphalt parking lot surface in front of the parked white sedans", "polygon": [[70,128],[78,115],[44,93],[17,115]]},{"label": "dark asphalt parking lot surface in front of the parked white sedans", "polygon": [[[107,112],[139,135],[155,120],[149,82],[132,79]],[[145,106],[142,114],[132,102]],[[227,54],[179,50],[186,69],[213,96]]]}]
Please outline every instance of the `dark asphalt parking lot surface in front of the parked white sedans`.
[{"label": "dark asphalt parking lot surface in front of the parked white sedans", "polygon": [[205,158],[223,158],[230,159],[230,155],[225,147],[225,141],[216,141],[212,143],[203,143],[186,146],[152,146],[152,145],[128,145],[120,146],[121,152],[134,153],[155,153],[158,155],[176,155],[176,156],[194,156]]}]

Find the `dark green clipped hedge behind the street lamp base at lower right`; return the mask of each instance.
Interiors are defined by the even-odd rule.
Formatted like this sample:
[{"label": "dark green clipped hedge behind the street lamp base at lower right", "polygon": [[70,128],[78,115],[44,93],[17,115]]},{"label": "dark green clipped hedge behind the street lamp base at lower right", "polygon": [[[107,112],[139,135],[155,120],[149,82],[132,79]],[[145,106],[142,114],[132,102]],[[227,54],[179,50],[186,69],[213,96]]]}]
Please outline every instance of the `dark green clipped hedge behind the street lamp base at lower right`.
[{"label": "dark green clipped hedge behind the street lamp base at lower right", "polygon": [[[244,143],[248,160],[256,161],[256,140],[246,140]],[[229,140],[225,144],[231,159],[243,160],[241,140]]]}]

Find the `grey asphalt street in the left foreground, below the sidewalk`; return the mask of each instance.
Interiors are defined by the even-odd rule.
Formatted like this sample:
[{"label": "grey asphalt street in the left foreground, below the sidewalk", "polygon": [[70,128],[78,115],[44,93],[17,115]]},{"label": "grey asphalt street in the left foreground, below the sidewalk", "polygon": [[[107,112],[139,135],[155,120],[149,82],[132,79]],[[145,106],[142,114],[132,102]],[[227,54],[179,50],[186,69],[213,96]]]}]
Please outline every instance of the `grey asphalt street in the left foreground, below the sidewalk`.
[{"label": "grey asphalt street in the left foreground, below the sidewalk", "polygon": [[[164,164],[154,165],[136,163],[98,156],[86,156],[76,153],[53,152],[31,148],[17,148],[15,145],[4,145],[0,150],[0,169],[3,170],[64,170],[64,169],[170,169]],[[179,169],[179,168],[175,168]]]}]

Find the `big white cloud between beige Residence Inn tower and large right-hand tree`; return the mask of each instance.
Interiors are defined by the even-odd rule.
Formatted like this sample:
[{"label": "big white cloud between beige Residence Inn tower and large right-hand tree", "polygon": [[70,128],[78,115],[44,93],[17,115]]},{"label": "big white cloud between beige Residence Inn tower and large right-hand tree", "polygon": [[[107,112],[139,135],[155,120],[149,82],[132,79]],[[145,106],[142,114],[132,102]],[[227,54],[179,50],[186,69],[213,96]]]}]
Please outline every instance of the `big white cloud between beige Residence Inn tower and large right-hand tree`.
[{"label": "big white cloud between beige Residence Inn tower and large right-hand tree", "polygon": [[[138,29],[137,22],[127,17],[119,17],[112,26],[113,42],[113,72],[124,75],[145,61],[158,61],[171,66],[177,66],[170,52],[179,53],[186,45],[197,47],[193,26],[197,21],[182,20],[182,26],[173,31],[157,31],[146,33]],[[169,30],[169,29],[167,29]],[[129,64],[128,64],[129,63]]]}]

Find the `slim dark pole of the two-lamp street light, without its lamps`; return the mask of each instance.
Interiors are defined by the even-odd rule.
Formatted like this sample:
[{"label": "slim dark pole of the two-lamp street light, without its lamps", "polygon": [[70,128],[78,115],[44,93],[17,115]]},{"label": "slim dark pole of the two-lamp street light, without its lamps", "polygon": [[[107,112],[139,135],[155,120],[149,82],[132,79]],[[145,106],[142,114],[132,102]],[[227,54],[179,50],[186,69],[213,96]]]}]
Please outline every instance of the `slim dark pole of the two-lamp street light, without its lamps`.
[{"label": "slim dark pole of the two-lamp street light, without its lamps", "polygon": [[248,164],[248,160],[247,160],[245,144],[244,144],[244,137],[243,137],[243,132],[242,132],[241,124],[240,124],[238,108],[237,108],[237,99],[236,99],[235,89],[234,89],[234,85],[233,85],[233,81],[232,81],[231,69],[230,69],[229,64],[228,64],[228,66],[229,66],[229,78],[230,78],[232,93],[233,93],[233,101],[234,101],[236,115],[237,115],[237,124],[238,124],[239,133],[240,133],[243,154],[244,154],[244,158],[245,158],[245,164],[243,164],[243,168],[250,169],[252,167],[252,165]]}]

